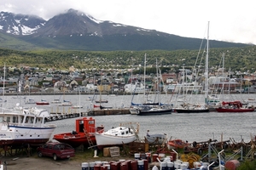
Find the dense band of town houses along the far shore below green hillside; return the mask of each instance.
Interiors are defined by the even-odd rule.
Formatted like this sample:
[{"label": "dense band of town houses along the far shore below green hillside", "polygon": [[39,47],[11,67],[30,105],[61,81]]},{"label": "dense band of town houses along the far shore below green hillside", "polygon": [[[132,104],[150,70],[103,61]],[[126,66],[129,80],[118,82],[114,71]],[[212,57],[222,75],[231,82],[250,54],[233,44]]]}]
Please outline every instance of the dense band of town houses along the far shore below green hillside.
[{"label": "dense band of town houses along the far shore below green hillside", "polygon": [[[3,74],[4,72],[4,74]],[[231,76],[230,76],[231,75]],[[3,78],[5,76],[5,78]],[[232,77],[232,78],[230,78]],[[180,92],[186,90],[201,94],[206,89],[203,74],[195,75],[189,69],[165,72],[156,77],[154,74],[131,75],[130,70],[79,71],[73,66],[68,71],[39,71],[37,68],[26,67],[15,71],[12,67],[1,70],[0,92],[11,93],[102,93],[115,94],[120,92],[142,93],[144,90],[161,92]],[[130,85],[130,86],[129,86]],[[208,76],[208,89],[212,91],[228,90],[232,93],[255,93],[255,74],[228,71],[211,71]],[[139,91],[139,89],[141,89]]]}]

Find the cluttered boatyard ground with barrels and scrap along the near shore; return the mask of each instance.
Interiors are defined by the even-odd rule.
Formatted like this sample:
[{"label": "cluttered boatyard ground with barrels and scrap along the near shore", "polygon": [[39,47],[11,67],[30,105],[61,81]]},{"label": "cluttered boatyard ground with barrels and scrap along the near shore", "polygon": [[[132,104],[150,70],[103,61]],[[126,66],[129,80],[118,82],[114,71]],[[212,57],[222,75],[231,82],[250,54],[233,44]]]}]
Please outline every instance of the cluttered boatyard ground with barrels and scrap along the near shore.
[{"label": "cluttered boatyard ground with barrels and scrap along the near shore", "polygon": [[[76,156],[70,160],[54,161],[48,157],[38,158],[33,150],[26,155],[18,152],[13,156],[3,156],[1,161],[9,170],[34,169],[39,165],[46,169],[114,169],[114,170],[140,170],[147,169],[228,169],[236,170],[240,161],[253,161],[255,139],[250,143],[235,141],[211,141],[195,142],[187,144],[189,152],[177,151],[177,148],[169,150],[166,144],[148,144],[147,142],[132,142],[122,147],[110,147],[98,150],[76,150]],[[204,148],[198,152],[199,148]],[[186,150],[187,150],[186,149]],[[236,150],[236,152],[234,152]],[[244,153],[242,153],[244,152]],[[85,156],[85,157],[84,157]],[[221,160],[221,161],[220,161]],[[122,168],[120,168],[120,166]],[[219,167],[222,166],[222,167]]]}]

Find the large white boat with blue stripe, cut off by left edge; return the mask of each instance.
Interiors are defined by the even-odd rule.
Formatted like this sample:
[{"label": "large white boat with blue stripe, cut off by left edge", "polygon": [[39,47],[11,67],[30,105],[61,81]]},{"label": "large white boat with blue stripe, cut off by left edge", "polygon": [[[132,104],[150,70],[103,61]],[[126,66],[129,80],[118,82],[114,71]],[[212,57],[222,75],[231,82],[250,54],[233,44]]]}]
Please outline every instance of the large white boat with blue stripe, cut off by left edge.
[{"label": "large white boat with blue stripe, cut off by left edge", "polygon": [[46,143],[55,125],[45,124],[49,112],[44,109],[24,109],[16,105],[13,110],[0,113],[0,145],[38,145]]}]

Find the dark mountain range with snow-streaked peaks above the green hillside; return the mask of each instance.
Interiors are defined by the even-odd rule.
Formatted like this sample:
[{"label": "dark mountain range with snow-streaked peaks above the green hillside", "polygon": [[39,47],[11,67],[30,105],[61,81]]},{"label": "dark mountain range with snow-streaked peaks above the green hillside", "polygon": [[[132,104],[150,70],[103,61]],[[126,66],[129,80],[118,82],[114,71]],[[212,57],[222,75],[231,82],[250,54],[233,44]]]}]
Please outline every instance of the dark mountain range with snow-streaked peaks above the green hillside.
[{"label": "dark mountain range with snow-streaked peaks above the green hillside", "polygon": [[[89,14],[74,9],[55,15],[49,20],[36,15],[6,12],[0,14],[0,45],[3,48],[88,51],[176,50],[198,49],[201,44],[199,38],[179,37],[112,21],[96,20]],[[214,40],[211,41],[211,45],[213,48],[248,46],[244,43]]]}]

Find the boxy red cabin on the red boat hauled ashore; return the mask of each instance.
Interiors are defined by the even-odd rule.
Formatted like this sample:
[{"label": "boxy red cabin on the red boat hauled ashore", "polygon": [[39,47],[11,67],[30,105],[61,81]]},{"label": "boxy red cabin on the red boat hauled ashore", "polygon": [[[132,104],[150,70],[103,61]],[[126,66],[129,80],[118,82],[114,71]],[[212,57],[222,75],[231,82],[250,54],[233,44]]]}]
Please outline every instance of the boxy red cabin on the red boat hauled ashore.
[{"label": "boxy red cabin on the red boat hauled ashore", "polygon": [[76,133],[84,133],[84,129],[88,133],[96,133],[102,130],[103,128],[103,126],[96,127],[95,119],[93,119],[92,117],[83,117],[76,120]]}]

